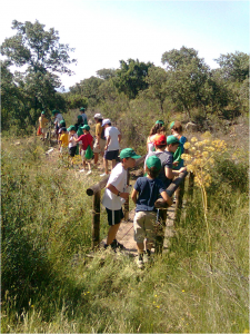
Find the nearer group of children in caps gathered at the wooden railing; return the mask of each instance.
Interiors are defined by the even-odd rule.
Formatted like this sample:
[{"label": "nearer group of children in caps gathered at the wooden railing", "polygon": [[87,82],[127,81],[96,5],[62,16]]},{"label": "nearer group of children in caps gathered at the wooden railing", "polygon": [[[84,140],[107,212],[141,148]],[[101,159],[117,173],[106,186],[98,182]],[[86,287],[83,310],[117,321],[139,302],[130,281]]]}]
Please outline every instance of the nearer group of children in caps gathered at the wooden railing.
[{"label": "nearer group of children in caps gathered at the wooden railing", "polygon": [[[179,121],[171,122],[171,135],[167,137],[163,127],[163,121],[158,120],[153,127],[156,132],[153,134],[152,130],[150,132],[151,138],[147,140],[146,175],[137,179],[131,194],[131,199],[136,204],[133,228],[138,248],[138,267],[140,268],[144,266],[146,262],[152,259],[151,248],[156,240],[157,223],[154,203],[162,197],[168,205],[172,204],[166,189],[176,176],[186,170],[181,154],[184,151],[183,144],[187,138],[182,136],[181,124]],[[122,149],[121,163],[111,170],[102,198],[110,226],[104,248],[109,246],[113,250],[124,248],[118,243],[116,235],[123,218],[122,203],[129,198],[127,169],[134,167],[138,158],[140,156],[132,148]]]}]

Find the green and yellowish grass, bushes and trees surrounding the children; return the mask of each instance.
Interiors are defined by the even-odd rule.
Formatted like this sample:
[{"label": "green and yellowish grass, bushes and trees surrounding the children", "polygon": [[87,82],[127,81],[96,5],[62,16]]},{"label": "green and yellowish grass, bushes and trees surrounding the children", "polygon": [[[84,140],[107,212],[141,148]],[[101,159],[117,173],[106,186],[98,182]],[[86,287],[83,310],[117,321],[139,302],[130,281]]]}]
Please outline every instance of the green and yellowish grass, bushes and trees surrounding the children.
[{"label": "green and yellowish grass, bushes and trees surrounding the children", "polygon": [[[100,69],[59,94],[57,72],[69,72],[71,49],[39,22],[14,21],[13,28],[18,33],[1,46],[2,332],[249,333],[249,161],[242,130],[239,138],[233,132],[236,116],[246,124],[249,112],[249,56],[221,55],[220,68],[211,70],[198,51],[182,47],[162,55],[166,69],[121,60],[119,69]],[[10,71],[24,63],[23,73]],[[111,118],[122,147],[140,154],[157,119],[196,121],[200,132],[190,148],[207,129],[219,139],[232,132],[227,151],[187,157],[190,170],[199,169],[197,158],[212,158],[206,175],[197,169],[206,191],[198,181],[193,197],[186,195],[169,250],[144,271],[120,253],[88,257],[92,199],[86,189],[100,178],[80,178],[30,135],[41,109],[50,116],[58,108],[74,124],[81,106],[89,118]],[[107,230],[101,208],[101,238]]]}]

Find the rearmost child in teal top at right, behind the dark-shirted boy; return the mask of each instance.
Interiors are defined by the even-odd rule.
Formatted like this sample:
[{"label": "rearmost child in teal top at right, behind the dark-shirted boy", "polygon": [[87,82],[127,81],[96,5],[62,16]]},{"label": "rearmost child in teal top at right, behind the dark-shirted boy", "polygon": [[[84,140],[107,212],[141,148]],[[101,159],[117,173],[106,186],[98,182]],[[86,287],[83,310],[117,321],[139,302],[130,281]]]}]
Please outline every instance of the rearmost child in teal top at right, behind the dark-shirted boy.
[{"label": "rearmost child in teal top at right, behind the dark-shirted boy", "polygon": [[187,138],[182,136],[182,125],[179,120],[172,121],[170,124],[170,130],[171,134],[178,138],[180,141],[180,145],[176,153],[173,154],[173,169],[180,169],[181,167],[184,166],[183,159],[181,159],[181,155],[183,153],[188,153],[188,150],[184,149],[183,145],[187,141]]}]

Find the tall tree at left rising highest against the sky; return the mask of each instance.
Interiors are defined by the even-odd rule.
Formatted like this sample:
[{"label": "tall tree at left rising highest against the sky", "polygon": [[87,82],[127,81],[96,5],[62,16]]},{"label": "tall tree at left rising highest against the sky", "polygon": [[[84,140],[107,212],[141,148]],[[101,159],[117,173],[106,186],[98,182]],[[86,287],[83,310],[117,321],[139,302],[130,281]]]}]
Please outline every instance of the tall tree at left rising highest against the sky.
[{"label": "tall tree at left rising highest against the sky", "polygon": [[71,76],[69,65],[76,62],[70,58],[73,49],[59,42],[59,33],[54,28],[44,30],[38,20],[24,23],[14,20],[12,29],[17,35],[7,38],[1,45],[1,55],[11,65],[23,68],[23,91],[33,99],[33,107],[46,108],[54,99],[56,88],[61,86],[59,73]]}]

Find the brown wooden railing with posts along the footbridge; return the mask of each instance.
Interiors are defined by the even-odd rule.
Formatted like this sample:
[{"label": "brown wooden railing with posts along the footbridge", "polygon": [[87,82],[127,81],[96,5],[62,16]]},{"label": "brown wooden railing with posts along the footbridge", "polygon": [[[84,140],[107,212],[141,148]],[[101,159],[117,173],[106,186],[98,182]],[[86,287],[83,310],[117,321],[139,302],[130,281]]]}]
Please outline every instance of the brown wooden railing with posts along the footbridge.
[{"label": "brown wooden railing with posts along the footbridge", "polygon": [[[136,166],[139,167],[144,163],[146,155],[142,156],[141,158],[137,159]],[[127,177],[127,184],[129,185],[130,181],[130,169],[127,170],[128,177]],[[167,193],[171,197],[173,193],[177,189],[181,189],[180,185],[183,185],[183,180],[186,176],[188,175],[187,171],[181,173],[178,178],[176,178],[171,185],[168,187]],[[100,207],[101,207],[101,190],[106,187],[108,183],[109,176],[104,177],[102,180],[100,180],[98,184],[94,184],[93,186],[89,187],[87,189],[87,195],[88,196],[93,196],[93,202],[92,202],[92,249],[98,248],[100,244]],[[192,186],[189,183],[189,194],[192,194]],[[183,188],[183,187],[182,187]],[[182,207],[182,198],[183,198],[183,190],[179,191],[179,195],[177,196],[177,203],[176,203],[176,217],[180,216],[181,207]],[[166,224],[166,217],[167,217],[167,208],[168,205],[164,203],[162,199],[158,199],[156,202],[156,208],[160,209],[160,217],[163,223]],[[129,219],[129,198],[124,203],[124,220]],[[162,245],[163,245],[163,236],[157,238],[157,252],[161,252]]]}]

